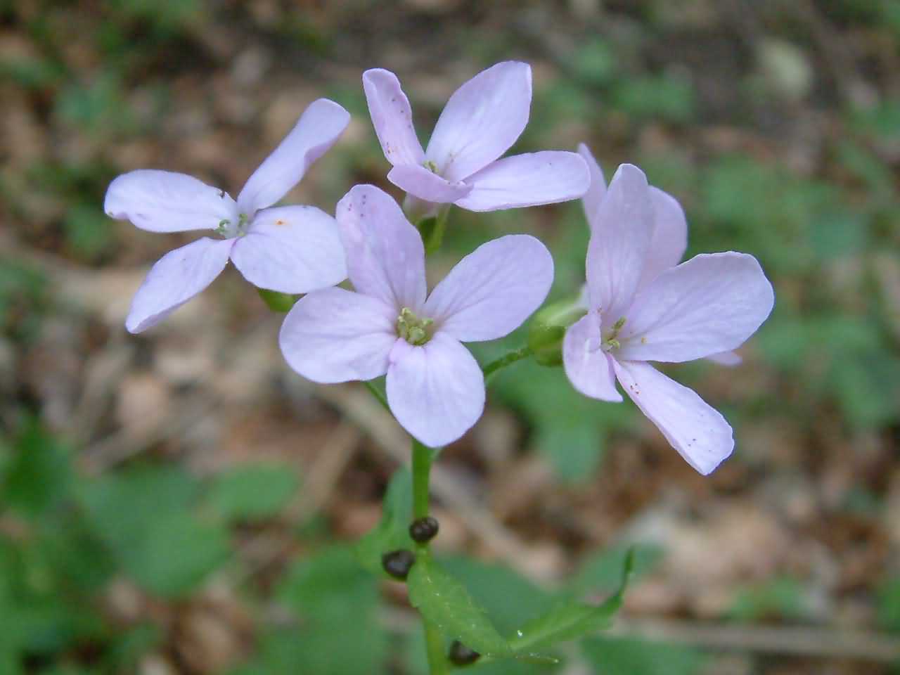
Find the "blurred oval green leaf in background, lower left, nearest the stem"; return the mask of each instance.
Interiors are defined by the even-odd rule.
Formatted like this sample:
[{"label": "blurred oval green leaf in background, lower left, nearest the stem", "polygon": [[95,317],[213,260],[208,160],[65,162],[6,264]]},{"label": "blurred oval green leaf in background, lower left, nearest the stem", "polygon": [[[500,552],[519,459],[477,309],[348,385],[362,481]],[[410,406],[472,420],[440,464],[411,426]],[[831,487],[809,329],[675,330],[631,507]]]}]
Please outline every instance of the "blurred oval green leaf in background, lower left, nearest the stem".
[{"label": "blurred oval green leaf in background, lower left, nearest the stem", "polygon": [[284,508],[297,485],[297,474],[289,465],[240,464],[216,476],[207,501],[229,520],[271,518]]}]

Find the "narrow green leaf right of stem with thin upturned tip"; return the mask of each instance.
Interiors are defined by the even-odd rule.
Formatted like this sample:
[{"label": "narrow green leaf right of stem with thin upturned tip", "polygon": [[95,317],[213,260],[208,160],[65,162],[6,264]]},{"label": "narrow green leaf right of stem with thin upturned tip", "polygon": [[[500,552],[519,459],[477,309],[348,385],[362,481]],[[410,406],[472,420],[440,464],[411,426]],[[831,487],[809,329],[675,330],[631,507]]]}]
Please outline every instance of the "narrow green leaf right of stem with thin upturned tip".
[{"label": "narrow green leaf right of stem with thin upturned tip", "polygon": [[608,628],[622,606],[634,563],[635,554],[631,550],[626,555],[618,590],[603,603],[593,606],[563,602],[519,628],[509,641],[510,646],[516,652],[530,652]]}]

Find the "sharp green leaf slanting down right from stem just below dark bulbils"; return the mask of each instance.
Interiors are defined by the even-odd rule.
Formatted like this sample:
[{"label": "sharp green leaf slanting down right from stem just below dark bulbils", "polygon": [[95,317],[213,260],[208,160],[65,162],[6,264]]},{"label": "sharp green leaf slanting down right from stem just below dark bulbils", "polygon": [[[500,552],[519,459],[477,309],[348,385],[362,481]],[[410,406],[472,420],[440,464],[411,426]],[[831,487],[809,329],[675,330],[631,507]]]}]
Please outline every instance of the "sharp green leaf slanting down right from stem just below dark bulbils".
[{"label": "sharp green leaf slanting down right from stem just below dark bulbils", "polygon": [[428,554],[419,554],[407,579],[410,603],[446,637],[478,653],[511,655],[509,644],[464,586]]}]

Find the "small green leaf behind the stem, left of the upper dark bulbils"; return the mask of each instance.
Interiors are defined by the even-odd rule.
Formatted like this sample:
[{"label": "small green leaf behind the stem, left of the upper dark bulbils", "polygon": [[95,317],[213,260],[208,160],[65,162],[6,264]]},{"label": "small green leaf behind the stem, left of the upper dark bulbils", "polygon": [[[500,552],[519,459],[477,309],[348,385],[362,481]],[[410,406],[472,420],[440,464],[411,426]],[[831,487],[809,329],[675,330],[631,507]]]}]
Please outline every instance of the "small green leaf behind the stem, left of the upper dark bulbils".
[{"label": "small green leaf behind the stem, left of the upper dark bulbils", "polygon": [[382,519],[356,544],[356,558],[369,572],[385,574],[382,555],[401,548],[414,548],[412,522],[412,474],[401,467],[391,477],[382,501]]}]

